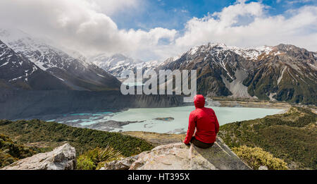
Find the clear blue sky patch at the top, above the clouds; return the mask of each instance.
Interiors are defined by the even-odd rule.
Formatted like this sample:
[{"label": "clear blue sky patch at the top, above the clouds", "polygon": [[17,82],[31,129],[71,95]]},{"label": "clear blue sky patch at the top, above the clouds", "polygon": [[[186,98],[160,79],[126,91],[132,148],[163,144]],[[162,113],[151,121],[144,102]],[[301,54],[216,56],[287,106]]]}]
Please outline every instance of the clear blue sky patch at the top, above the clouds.
[{"label": "clear blue sky patch at the top, above the clouds", "polygon": [[[182,30],[185,23],[193,17],[203,18],[208,13],[219,12],[235,4],[235,0],[147,0],[137,11],[118,11],[111,18],[120,29],[149,30],[154,27]],[[251,1],[247,1],[248,3]],[[317,4],[313,0],[263,0],[254,1],[267,5],[266,13],[270,16],[284,14],[292,8]]]}]

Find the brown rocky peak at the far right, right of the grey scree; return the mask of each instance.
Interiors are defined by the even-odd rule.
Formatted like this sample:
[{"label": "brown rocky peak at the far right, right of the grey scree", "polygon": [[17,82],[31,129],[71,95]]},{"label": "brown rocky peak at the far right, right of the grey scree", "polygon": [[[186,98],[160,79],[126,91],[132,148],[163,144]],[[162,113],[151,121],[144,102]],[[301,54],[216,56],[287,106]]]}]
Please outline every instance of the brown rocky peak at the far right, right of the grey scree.
[{"label": "brown rocky peak at the far right, right of the grey scree", "polygon": [[279,44],[258,57],[256,68],[244,80],[248,92],[261,99],[316,104],[317,54]]}]

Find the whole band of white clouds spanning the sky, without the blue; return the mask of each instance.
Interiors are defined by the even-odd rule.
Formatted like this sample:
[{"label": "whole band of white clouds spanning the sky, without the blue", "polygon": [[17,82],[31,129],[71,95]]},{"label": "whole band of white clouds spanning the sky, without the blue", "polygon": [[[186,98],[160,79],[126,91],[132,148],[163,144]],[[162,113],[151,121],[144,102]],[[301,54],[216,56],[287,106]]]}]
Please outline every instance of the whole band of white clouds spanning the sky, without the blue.
[{"label": "whole band of white clouds spanning the sky, without the blue", "polygon": [[204,18],[192,18],[179,32],[163,27],[120,30],[110,15],[137,11],[144,0],[1,0],[2,24],[54,39],[83,54],[123,53],[137,59],[166,59],[206,42],[237,47],[294,44],[317,50],[317,7],[269,16],[261,2],[237,1]]}]

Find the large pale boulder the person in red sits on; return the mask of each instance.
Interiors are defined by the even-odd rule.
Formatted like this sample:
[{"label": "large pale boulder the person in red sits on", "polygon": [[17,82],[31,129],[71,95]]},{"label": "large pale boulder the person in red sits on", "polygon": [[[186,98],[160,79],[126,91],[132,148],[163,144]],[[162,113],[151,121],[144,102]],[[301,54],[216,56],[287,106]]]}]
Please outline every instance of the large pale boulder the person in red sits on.
[{"label": "large pale boulder the person in red sits on", "polygon": [[[135,161],[133,161],[133,159],[135,159]],[[155,147],[149,152],[142,152],[137,155],[137,157],[129,157],[121,161],[108,163],[103,169],[128,168],[130,170],[251,169],[249,166],[244,164],[220,139],[217,139],[215,144],[209,149],[200,149],[194,145],[189,147],[184,145],[182,142],[161,145]]]}]

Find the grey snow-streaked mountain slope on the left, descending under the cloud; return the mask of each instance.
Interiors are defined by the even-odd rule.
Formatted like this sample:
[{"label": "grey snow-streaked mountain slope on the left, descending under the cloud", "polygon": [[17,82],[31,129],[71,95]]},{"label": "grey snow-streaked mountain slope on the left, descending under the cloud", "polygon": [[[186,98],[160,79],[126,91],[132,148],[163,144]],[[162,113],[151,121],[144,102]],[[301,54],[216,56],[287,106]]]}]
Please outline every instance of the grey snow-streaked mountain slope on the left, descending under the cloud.
[{"label": "grey snow-streaked mountain slope on the left, descending under the cloud", "polygon": [[[120,82],[85,57],[52,47],[20,30],[0,30],[0,39],[38,68],[54,75],[73,90],[118,89]],[[69,53],[69,52],[68,52]]]}]

